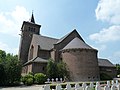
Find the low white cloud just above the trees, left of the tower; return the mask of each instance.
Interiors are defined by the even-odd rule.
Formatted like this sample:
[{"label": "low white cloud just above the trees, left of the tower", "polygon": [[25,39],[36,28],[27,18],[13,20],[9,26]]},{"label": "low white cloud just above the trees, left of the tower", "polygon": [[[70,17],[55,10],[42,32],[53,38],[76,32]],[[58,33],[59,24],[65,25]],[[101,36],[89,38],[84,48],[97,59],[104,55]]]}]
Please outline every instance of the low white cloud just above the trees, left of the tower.
[{"label": "low white cloud just above the trees, left of the tower", "polygon": [[4,50],[7,53],[18,54],[18,48],[11,48],[7,44],[0,42],[0,50]]}]

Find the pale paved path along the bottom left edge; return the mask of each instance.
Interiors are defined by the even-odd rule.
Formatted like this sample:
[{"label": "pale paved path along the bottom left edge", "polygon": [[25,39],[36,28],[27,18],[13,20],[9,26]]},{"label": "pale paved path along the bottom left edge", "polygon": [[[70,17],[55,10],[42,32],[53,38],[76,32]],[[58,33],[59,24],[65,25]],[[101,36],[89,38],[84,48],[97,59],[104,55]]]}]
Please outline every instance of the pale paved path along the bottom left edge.
[{"label": "pale paved path along the bottom left edge", "polygon": [[43,85],[18,86],[18,87],[0,87],[0,90],[43,90]]}]

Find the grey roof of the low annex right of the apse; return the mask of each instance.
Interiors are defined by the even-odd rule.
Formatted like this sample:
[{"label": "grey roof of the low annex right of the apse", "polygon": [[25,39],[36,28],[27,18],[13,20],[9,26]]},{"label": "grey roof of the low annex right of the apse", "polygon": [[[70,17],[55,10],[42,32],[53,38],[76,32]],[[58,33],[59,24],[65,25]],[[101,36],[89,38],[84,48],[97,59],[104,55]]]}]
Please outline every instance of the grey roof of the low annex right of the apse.
[{"label": "grey roof of the low annex right of the apse", "polygon": [[98,65],[104,67],[115,67],[109,60],[101,58],[98,59]]}]

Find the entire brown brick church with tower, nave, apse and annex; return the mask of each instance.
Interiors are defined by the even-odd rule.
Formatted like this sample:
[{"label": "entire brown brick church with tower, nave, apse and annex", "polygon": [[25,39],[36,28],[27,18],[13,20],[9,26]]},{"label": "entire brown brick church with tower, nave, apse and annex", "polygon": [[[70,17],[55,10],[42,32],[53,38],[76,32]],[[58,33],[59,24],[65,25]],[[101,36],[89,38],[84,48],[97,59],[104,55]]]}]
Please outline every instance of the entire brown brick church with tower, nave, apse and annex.
[{"label": "entire brown brick church with tower, nave, apse and annex", "polygon": [[115,77],[115,66],[107,59],[99,59],[98,50],[88,45],[76,29],[57,39],[42,35],[40,28],[33,13],[22,24],[18,55],[23,64],[22,74],[46,73],[51,58],[66,63],[71,81],[100,80],[101,73]]}]

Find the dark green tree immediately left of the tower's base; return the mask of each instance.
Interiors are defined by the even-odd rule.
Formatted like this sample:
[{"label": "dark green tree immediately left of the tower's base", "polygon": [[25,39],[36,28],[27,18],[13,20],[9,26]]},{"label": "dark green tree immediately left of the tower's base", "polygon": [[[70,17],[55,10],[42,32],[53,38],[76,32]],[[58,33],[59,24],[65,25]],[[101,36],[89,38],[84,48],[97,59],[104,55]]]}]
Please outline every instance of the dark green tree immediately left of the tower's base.
[{"label": "dark green tree immediately left of the tower's base", "polygon": [[21,78],[21,64],[17,60],[16,56],[11,56],[8,63],[6,64],[6,73],[8,84],[17,84]]}]

